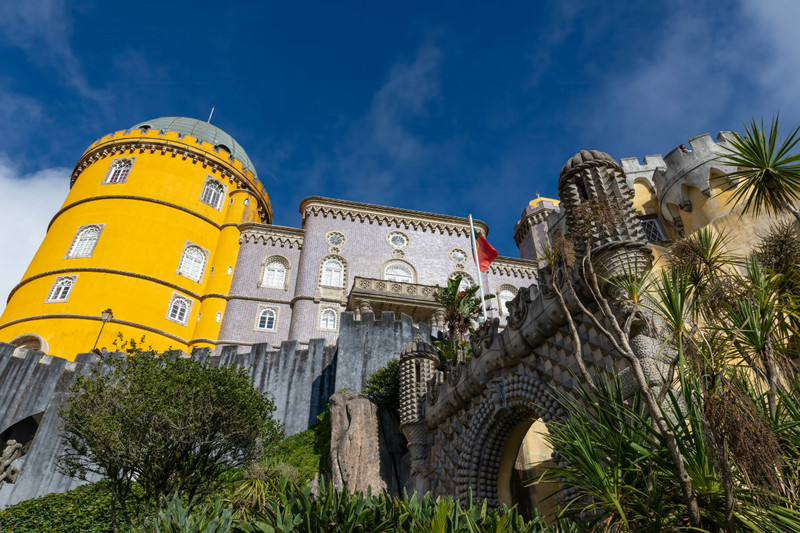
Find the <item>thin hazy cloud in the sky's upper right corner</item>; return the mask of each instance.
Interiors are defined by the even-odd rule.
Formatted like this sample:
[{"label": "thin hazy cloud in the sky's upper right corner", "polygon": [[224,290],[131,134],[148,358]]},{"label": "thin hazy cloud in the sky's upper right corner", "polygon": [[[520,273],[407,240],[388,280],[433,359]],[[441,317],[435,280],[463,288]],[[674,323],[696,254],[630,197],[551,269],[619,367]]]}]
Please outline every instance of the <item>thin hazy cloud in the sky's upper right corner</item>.
[{"label": "thin hazy cloud in the sky's upper right corner", "polygon": [[793,38],[800,3],[678,0],[669,13],[653,27],[649,55],[633,50],[625,70],[606,70],[598,80],[576,114],[584,142],[604,139],[633,150],[620,154],[627,156],[739,129],[751,116],[780,111],[791,122],[800,118]]}]

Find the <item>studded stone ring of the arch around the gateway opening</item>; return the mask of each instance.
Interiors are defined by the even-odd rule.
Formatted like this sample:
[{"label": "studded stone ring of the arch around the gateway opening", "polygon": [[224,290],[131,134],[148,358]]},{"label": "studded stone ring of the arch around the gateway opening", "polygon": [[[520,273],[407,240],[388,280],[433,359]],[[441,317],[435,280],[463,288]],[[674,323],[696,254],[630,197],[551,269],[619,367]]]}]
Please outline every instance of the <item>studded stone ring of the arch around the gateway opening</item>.
[{"label": "studded stone ring of the arch around the gateway opening", "polygon": [[[510,375],[490,381],[472,410],[459,455],[456,496],[465,502],[487,500],[492,507],[512,502],[511,474],[529,428],[552,419],[550,388],[541,380]],[[543,437],[542,437],[543,438]]]}]

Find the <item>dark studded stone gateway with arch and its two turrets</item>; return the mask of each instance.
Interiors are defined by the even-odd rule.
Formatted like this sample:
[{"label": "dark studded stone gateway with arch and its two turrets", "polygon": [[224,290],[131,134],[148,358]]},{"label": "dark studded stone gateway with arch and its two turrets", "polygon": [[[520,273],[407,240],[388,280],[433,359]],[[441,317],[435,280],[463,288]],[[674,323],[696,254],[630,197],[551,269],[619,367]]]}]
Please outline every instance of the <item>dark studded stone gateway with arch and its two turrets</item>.
[{"label": "dark studded stone gateway with arch and its two turrets", "polygon": [[[561,171],[559,194],[572,233],[578,231],[576,217],[582,216],[583,203],[602,196],[618,204],[622,223],[590,226],[592,264],[604,279],[612,279],[631,261],[649,268],[650,251],[625,174],[609,155],[582,151],[570,159]],[[575,252],[580,263],[586,252],[580,246]],[[520,290],[508,304],[507,327],[500,331],[498,319],[483,324],[471,339],[473,358],[451,365],[446,375],[438,369],[436,350],[421,337],[403,350],[401,429],[408,439],[413,489],[451,494],[461,501],[471,490],[473,498],[490,505],[510,503],[511,468],[531,423],[546,425],[567,414],[555,404],[553,393],[569,392],[575,385],[574,343],[549,273],[542,273],[538,287]],[[611,290],[608,284],[605,290]],[[568,309],[574,309],[575,302],[562,292]],[[587,367],[624,366],[588,317],[571,315]],[[641,333],[637,338],[644,341],[632,343],[641,348],[637,356],[647,359],[643,366],[656,370],[649,372],[651,380],[662,379],[651,349],[659,343],[647,342],[650,338]],[[621,379],[630,388],[626,374],[623,370]]]}]

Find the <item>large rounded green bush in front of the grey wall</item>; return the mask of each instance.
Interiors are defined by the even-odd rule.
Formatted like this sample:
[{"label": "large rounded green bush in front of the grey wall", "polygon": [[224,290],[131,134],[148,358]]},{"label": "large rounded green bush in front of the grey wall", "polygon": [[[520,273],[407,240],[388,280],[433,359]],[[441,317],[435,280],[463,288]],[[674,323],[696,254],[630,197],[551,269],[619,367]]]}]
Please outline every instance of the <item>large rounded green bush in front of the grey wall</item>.
[{"label": "large rounded green bush in front of the grey wall", "polygon": [[134,479],[145,506],[178,492],[212,492],[220,475],[247,464],[282,435],[275,407],[244,369],[136,352],[110,372],[79,376],[61,412],[62,470],[99,474],[130,523]]}]

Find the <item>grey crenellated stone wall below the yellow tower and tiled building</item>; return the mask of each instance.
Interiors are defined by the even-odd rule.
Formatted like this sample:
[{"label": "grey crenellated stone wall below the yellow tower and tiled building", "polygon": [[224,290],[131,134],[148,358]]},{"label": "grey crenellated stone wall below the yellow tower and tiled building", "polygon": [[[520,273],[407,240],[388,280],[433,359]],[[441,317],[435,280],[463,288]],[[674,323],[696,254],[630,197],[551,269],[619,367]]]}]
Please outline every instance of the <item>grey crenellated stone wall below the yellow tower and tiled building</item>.
[{"label": "grey crenellated stone wall below the yellow tower and tiled building", "polygon": [[[253,385],[273,398],[275,418],[292,435],[316,423],[335,391],[360,392],[367,377],[399,357],[418,333],[430,341],[430,328],[426,324],[415,327],[406,315],[395,320],[393,313],[384,313],[375,320],[372,313],[364,313],[355,320],[348,312],[341,316],[337,346],[326,346],[325,339],[311,340],[307,348],[285,341],[278,350],[268,343],[255,344],[248,351],[230,345],[197,357],[214,366],[249,369]],[[56,470],[56,456],[63,448],[58,411],[75,376],[89,373],[98,364],[102,363],[93,354],[79,354],[73,362],[0,343],[0,439],[20,440],[22,429],[38,424],[28,453],[15,463],[20,469],[16,484],[0,487],[0,508],[81,484]],[[397,437],[400,442],[399,432]],[[392,483],[397,484],[396,480]]]}]

